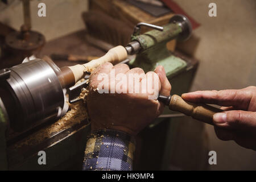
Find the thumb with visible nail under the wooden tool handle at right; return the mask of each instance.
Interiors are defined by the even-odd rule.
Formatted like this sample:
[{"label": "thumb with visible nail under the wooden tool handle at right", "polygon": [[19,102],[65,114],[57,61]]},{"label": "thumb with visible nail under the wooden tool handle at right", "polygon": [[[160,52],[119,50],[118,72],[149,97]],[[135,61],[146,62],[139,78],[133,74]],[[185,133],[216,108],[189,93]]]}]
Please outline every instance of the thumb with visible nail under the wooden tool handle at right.
[{"label": "thumb with visible nail under the wooden tool handle at right", "polygon": [[231,110],[213,115],[213,123],[225,129],[256,131],[256,112]]}]

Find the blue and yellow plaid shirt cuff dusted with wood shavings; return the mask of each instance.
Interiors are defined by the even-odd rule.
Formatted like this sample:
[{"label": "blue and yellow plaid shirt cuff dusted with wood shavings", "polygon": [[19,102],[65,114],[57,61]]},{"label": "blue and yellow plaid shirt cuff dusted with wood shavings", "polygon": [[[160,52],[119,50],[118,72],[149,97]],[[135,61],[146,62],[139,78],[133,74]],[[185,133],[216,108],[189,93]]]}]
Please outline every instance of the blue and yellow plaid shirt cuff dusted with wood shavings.
[{"label": "blue and yellow plaid shirt cuff dusted with wood shavings", "polygon": [[87,140],[83,170],[131,171],[135,140],[121,131],[104,130]]}]

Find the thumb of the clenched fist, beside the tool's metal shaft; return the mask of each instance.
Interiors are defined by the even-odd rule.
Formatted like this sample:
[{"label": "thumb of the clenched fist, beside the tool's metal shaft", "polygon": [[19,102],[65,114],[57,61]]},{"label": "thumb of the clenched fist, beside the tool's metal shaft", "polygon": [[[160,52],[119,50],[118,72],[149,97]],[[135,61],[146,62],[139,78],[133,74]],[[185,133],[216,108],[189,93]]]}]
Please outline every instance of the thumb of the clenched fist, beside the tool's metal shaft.
[{"label": "thumb of the clenched fist, beside the tool's metal shaft", "polygon": [[163,96],[170,96],[171,84],[166,77],[166,71],[164,71],[164,67],[163,66],[156,67],[155,73],[158,74],[160,83],[161,83],[161,90],[160,90],[159,94],[162,94]]}]

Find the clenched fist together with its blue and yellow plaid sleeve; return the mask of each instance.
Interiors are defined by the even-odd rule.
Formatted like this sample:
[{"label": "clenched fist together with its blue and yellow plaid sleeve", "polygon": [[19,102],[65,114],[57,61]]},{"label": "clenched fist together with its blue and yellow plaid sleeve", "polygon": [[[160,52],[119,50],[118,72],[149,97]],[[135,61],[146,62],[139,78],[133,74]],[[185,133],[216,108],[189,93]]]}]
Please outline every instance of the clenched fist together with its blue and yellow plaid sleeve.
[{"label": "clenched fist together with its blue and yellow plaid sleeve", "polygon": [[[102,74],[110,80],[104,86],[101,85]],[[129,80],[129,75],[133,74],[138,76],[136,86],[135,80],[134,84]],[[113,75],[122,75],[123,79],[111,80]],[[149,92],[143,83],[151,85],[150,90],[154,92]],[[139,92],[130,92],[131,88]],[[132,170],[134,136],[162,113],[164,105],[156,100],[159,92],[166,96],[171,92],[164,68],[159,66],[155,72],[145,74],[141,68],[105,63],[92,72],[89,90],[86,101],[92,135],[86,143],[82,169]]]}]

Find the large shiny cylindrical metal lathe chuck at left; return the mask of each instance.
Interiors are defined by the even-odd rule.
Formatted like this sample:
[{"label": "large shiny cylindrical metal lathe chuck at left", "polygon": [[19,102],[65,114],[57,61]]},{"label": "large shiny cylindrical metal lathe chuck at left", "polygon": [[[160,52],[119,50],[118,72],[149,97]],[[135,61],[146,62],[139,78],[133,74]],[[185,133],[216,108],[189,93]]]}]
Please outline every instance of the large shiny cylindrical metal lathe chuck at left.
[{"label": "large shiny cylindrical metal lathe chuck at left", "polygon": [[25,130],[57,119],[64,107],[64,93],[54,63],[35,59],[0,71],[0,105],[11,128]]}]

